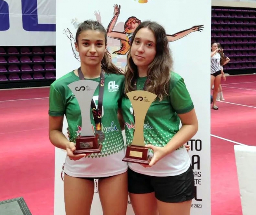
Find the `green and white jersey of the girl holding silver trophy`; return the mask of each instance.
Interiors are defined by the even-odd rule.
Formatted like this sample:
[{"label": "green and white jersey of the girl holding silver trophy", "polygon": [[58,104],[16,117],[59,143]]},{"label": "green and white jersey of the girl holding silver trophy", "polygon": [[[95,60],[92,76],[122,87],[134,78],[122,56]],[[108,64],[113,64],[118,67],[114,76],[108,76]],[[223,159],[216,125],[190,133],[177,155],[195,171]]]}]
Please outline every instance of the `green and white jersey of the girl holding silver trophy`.
[{"label": "green and white jersey of the girl holding silver trophy", "polygon": [[[81,135],[81,110],[78,101],[68,85],[78,81],[78,76],[73,71],[57,79],[50,87],[49,115],[66,116],[70,141],[76,142],[76,137]],[[100,77],[90,79],[100,83]],[[103,107],[102,107],[102,132],[105,140],[100,153],[90,154],[78,161],[70,160],[66,156],[65,172],[73,177],[108,177],[118,175],[127,170],[127,163],[122,162],[125,156],[123,136],[117,117],[121,106],[124,89],[124,76],[105,73]],[[99,85],[93,100],[97,108]],[[95,131],[95,122],[90,109],[90,124]]]}]

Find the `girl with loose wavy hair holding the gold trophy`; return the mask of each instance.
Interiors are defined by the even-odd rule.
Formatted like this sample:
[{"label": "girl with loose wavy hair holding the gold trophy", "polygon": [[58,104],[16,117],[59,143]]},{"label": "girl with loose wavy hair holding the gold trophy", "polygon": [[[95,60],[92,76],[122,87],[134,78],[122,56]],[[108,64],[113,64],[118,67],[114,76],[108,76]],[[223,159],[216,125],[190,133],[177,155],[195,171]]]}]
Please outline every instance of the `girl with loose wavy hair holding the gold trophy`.
[{"label": "girl with loose wavy hair holding the gold trophy", "polygon": [[[142,22],[130,41],[125,93],[146,90],[157,95],[147,111],[146,147],[153,151],[149,165],[128,163],[128,191],[135,215],[190,215],[194,175],[184,144],[197,132],[194,105],[181,76],[171,71],[173,60],[164,28]],[[125,125],[135,124],[131,102],[124,96]],[[179,128],[180,121],[182,123]],[[134,126],[125,126],[126,144]]]}]

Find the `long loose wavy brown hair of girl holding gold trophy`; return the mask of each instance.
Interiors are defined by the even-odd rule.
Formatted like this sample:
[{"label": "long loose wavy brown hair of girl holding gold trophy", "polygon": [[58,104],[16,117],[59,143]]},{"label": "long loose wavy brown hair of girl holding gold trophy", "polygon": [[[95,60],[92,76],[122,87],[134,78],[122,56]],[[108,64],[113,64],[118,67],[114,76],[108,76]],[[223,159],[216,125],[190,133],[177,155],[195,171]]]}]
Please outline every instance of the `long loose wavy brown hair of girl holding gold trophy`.
[{"label": "long loose wavy brown hair of girl holding gold trophy", "polygon": [[[168,40],[164,28],[156,22],[144,21],[135,30],[130,45],[133,46],[134,38],[141,28],[150,29],[156,38],[156,56],[149,64],[147,75],[148,82],[146,89],[157,95],[159,101],[169,95],[169,84],[171,78],[171,69],[173,59],[168,47]],[[131,51],[128,51],[127,66],[125,74],[125,93],[135,90],[135,79],[138,77],[138,69],[131,57]]]}]

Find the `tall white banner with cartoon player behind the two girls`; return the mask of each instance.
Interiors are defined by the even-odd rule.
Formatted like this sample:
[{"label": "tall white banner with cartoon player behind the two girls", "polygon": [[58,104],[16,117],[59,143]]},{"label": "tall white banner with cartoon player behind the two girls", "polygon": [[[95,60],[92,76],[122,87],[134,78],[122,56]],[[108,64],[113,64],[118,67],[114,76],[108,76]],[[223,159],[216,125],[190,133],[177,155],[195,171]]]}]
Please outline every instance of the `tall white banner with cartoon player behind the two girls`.
[{"label": "tall white banner with cartoon player behind the two girls", "polygon": [[[140,3],[145,2],[145,3]],[[166,29],[174,60],[174,71],[185,79],[199,120],[199,130],[187,144],[195,177],[195,198],[191,215],[211,214],[210,161],[210,45],[211,0],[83,0],[56,1],[57,23],[57,78],[80,66],[74,42],[76,29],[86,19],[100,21],[105,28],[117,12],[118,20],[108,37],[108,52],[119,68],[126,66],[129,37],[141,21],[152,20]],[[114,7],[114,5],[120,5]],[[200,30],[203,29],[203,30]],[[126,34],[127,40],[120,40]],[[109,35],[110,36],[110,35]],[[66,133],[67,123],[63,131]],[[124,135],[124,134],[123,134]],[[55,154],[55,215],[64,215],[62,165],[66,153],[56,149]],[[92,214],[101,215],[102,209],[95,181]],[[128,201],[127,215],[133,215]]]}]

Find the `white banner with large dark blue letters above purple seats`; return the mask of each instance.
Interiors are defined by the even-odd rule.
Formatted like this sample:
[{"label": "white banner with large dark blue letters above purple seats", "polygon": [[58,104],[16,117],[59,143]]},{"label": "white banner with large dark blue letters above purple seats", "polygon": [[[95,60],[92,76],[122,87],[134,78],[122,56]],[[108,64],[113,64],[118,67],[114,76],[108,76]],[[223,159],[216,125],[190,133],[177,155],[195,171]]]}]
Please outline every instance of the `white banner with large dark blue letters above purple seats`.
[{"label": "white banner with large dark blue letters above purple seats", "polygon": [[0,0],[0,46],[56,44],[55,1]]}]

